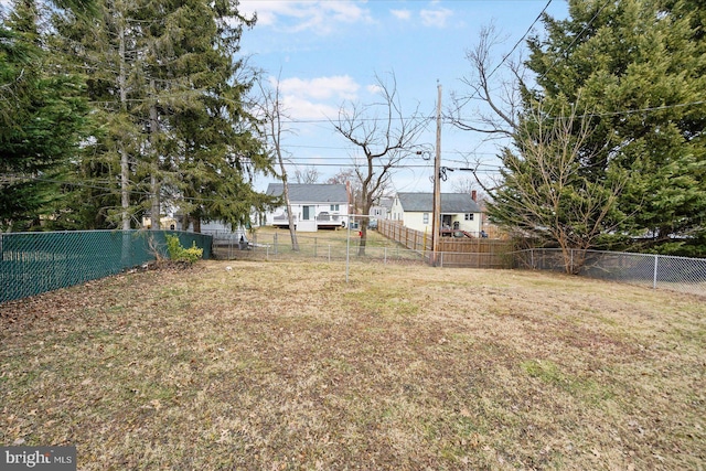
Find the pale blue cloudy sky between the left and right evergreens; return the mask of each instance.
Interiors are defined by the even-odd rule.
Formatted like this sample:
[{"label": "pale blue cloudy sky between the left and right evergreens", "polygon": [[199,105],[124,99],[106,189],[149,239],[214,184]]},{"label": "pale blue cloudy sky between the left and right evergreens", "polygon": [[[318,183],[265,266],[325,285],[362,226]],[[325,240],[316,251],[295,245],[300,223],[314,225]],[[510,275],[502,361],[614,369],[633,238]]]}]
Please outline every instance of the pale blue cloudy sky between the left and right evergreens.
[{"label": "pale blue cloudy sky between the left and right evergreens", "polygon": [[[386,85],[394,77],[403,114],[415,109],[428,116],[427,130],[419,137],[436,152],[436,109],[438,86],[441,106],[451,105],[451,95],[468,95],[462,79],[470,77],[467,52],[478,43],[483,26],[494,24],[502,42],[494,49],[494,63],[512,53],[521,54],[522,38],[546,12],[566,18],[565,0],[240,0],[239,10],[257,13],[257,23],[245,30],[240,45],[250,66],[265,72],[271,86],[279,83],[287,119],[282,125],[282,149],[289,156],[290,181],[296,169],[315,169],[323,183],[350,168],[360,150],[333,129],[342,107],[379,101],[377,79]],[[532,33],[544,32],[536,22]],[[520,42],[520,44],[517,44]],[[502,68],[495,75],[502,78]],[[462,115],[473,119],[475,109]],[[462,131],[445,120],[441,127],[441,165],[466,168],[481,162],[490,181],[498,170],[495,157],[503,141]],[[434,159],[405,159],[393,174],[392,192],[431,192]],[[442,192],[453,192],[470,172],[447,173]],[[257,189],[274,182],[260,176]]]}]

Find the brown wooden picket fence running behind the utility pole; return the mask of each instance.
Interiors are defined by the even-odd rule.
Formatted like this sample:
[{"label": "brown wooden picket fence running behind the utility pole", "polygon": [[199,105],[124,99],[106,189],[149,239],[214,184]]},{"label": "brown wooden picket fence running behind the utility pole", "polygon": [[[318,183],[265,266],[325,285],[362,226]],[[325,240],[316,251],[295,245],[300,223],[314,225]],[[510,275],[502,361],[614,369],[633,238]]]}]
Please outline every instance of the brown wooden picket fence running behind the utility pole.
[{"label": "brown wooden picket fence running behind the utility pole", "polygon": [[430,264],[443,267],[512,268],[515,247],[512,240],[494,238],[440,237],[436,260],[431,234],[410,229],[398,221],[379,221],[377,232],[405,247],[420,251]]}]

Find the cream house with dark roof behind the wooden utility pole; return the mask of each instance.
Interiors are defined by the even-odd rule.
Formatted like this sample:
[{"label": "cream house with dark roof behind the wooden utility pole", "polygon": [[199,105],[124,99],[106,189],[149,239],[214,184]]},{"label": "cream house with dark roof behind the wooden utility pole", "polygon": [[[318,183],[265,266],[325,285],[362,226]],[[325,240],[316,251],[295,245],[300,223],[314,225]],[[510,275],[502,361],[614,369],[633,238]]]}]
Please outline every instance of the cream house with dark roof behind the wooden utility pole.
[{"label": "cream house with dark roof behind the wooden utility pole", "polygon": [[[431,234],[432,193],[397,193],[391,220],[415,231]],[[468,193],[441,193],[441,228],[466,231],[480,236],[482,211]]]}]

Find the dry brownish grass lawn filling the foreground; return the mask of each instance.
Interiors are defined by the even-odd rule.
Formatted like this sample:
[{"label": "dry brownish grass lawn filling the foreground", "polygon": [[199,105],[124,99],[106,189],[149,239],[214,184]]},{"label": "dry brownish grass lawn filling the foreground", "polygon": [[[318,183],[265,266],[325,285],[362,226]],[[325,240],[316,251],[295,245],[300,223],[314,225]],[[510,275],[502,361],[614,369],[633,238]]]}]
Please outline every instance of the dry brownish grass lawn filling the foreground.
[{"label": "dry brownish grass lawn filling the foreground", "polygon": [[350,276],[201,261],[0,304],[0,445],[75,445],[81,470],[706,467],[704,298]]}]

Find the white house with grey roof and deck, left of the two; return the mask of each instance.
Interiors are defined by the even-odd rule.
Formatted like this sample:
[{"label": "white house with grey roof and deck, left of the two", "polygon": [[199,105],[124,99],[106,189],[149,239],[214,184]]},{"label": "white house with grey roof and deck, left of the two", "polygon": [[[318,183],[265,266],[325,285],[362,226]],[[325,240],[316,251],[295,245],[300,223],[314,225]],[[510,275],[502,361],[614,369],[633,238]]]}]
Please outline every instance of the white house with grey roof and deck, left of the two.
[{"label": "white house with grey roof and deck, left of the two", "polygon": [[[350,191],[345,184],[289,183],[289,203],[299,232],[345,227],[349,221]],[[267,194],[282,196],[282,183],[270,183]],[[282,204],[265,214],[265,224],[289,227],[287,206]]]}]

